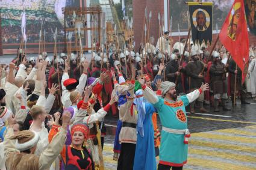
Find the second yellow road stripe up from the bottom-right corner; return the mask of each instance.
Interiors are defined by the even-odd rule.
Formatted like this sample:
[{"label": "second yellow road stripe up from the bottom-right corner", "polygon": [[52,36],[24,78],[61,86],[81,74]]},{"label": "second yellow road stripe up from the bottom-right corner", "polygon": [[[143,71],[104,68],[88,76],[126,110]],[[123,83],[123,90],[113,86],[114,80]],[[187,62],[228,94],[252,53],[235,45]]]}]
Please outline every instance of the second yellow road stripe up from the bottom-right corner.
[{"label": "second yellow road stripe up from the bottom-right corner", "polygon": [[221,157],[223,159],[231,159],[231,160],[238,160],[241,162],[253,162],[255,163],[256,157],[253,156],[245,156],[245,155],[238,155],[238,154],[231,154],[228,152],[223,151],[209,151],[203,149],[193,149],[189,148],[190,154],[200,154],[204,156],[212,156],[212,157]]}]

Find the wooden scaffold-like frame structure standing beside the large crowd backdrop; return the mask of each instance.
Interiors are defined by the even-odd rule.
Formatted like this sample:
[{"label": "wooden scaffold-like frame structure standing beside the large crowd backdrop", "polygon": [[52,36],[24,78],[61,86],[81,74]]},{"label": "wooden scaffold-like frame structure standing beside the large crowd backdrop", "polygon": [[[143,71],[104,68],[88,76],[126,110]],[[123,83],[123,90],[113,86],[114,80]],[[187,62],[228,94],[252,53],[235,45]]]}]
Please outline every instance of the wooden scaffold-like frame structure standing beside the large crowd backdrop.
[{"label": "wooden scaffold-like frame structure standing beside the large crowd backdrop", "polygon": [[62,8],[64,14],[64,52],[97,50],[101,42],[101,7]]}]

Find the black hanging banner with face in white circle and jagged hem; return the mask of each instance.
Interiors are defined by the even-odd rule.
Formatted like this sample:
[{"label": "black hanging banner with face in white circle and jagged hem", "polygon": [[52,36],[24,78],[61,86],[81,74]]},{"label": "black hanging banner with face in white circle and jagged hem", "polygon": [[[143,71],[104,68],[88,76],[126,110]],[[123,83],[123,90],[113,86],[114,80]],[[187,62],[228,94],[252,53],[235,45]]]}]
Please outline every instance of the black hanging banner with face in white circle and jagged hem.
[{"label": "black hanging banner with face in white circle and jagged hem", "polygon": [[210,43],[213,30],[213,3],[188,2],[192,39],[194,44]]}]

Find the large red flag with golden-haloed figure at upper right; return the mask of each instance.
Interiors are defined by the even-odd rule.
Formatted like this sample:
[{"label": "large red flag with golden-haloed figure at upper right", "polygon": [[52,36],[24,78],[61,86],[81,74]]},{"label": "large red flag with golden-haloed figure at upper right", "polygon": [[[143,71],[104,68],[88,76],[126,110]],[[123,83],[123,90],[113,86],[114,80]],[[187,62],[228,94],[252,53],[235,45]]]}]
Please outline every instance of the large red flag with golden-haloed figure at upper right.
[{"label": "large red flag with golden-haloed figure at upper right", "polygon": [[219,38],[223,46],[231,53],[237,66],[242,70],[242,82],[244,82],[248,70],[249,38],[243,0],[234,1],[223,23]]}]

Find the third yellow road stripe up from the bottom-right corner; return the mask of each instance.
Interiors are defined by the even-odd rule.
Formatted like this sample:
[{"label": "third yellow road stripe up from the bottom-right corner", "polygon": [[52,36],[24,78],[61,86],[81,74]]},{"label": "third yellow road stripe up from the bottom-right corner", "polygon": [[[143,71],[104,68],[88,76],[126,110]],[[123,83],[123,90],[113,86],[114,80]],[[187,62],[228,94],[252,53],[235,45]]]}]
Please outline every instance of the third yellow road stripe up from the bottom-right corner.
[{"label": "third yellow road stripe up from the bottom-right corner", "polygon": [[199,147],[210,147],[210,148],[220,148],[220,149],[228,149],[228,150],[234,150],[234,151],[245,151],[248,153],[256,153],[256,148],[252,147],[242,147],[240,145],[231,145],[231,144],[220,144],[216,142],[208,142],[208,141],[200,141],[192,139],[189,141],[189,145],[196,145]]}]

